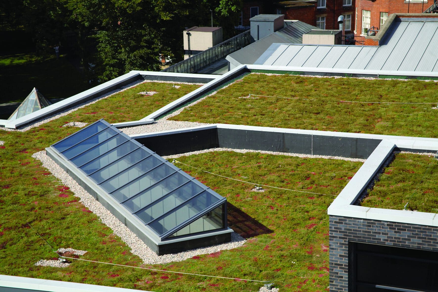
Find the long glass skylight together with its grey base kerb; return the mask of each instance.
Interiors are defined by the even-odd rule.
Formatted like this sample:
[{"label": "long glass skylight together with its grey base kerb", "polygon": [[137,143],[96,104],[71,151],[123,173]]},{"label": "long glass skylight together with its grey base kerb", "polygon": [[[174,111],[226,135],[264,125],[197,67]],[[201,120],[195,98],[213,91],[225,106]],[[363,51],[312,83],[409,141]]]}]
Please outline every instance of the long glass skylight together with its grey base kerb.
[{"label": "long glass skylight together with its grey base kerb", "polygon": [[159,255],[231,239],[226,198],[104,120],[46,150]]}]

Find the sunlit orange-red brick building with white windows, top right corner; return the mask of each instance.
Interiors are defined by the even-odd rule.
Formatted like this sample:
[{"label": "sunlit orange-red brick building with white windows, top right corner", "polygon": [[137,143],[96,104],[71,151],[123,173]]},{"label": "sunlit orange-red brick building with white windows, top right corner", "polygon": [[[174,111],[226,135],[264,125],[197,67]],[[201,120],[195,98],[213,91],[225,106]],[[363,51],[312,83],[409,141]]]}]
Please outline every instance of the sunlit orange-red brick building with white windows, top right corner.
[{"label": "sunlit orange-red brick building with white windows, top right corner", "polygon": [[357,44],[369,44],[365,40],[367,30],[378,34],[381,28],[392,13],[423,13],[434,0],[355,0],[355,23],[354,39]]}]

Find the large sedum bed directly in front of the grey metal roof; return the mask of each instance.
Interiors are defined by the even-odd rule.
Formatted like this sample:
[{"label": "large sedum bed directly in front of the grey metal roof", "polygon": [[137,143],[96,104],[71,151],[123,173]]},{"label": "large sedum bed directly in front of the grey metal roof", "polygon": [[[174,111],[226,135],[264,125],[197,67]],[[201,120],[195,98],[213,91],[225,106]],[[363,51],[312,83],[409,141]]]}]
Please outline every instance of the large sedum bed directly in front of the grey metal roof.
[{"label": "large sedum bed directly in front of the grey metal roof", "polygon": [[[171,119],[438,137],[437,110],[432,109],[437,106],[437,90],[438,83],[433,81],[251,74]],[[240,98],[249,94],[262,96]]]}]

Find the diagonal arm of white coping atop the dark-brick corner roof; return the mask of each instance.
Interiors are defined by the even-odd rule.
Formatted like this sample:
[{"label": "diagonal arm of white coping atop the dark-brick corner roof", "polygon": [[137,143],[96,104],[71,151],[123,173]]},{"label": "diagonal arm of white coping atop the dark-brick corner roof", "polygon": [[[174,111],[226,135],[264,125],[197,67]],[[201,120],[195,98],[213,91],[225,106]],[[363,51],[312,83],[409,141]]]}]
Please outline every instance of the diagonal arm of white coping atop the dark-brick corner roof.
[{"label": "diagonal arm of white coping atop the dark-brick corner roof", "polygon": [[[396,145],[393,142],[388,140],[380,142],[377,148],[374,149],[373,153],[371,153],[364,164],[359,168],[357,173],[354,174],[350,182],[348,182],[329,206],[327,210],[329,215],[346,216],[342,210],[345,210],[345,207],[353,207],[352,204],[374,178],[374,175],[391,155],[395,146]],[[343,208],[340,210],[338,207]]]}]

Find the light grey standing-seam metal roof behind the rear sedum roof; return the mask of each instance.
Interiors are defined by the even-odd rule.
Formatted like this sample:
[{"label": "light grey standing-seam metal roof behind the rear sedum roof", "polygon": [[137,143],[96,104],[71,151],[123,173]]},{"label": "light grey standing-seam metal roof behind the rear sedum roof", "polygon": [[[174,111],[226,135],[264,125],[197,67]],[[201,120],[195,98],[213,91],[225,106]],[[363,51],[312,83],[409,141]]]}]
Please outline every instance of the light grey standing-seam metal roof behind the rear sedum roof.
[{"label": "light grey standing-seam metal roof behind the rear sedum roof", "polygon": [[[396,18],[379,46],[324,45],[328,48],[323,48],[320,45],[315,49],[314,45],[274,43],[255,64],[437,72],[438,35],[435,32],[438,32],[436,19]],[[268,54],[275,56],[275,61]]]}]

